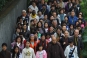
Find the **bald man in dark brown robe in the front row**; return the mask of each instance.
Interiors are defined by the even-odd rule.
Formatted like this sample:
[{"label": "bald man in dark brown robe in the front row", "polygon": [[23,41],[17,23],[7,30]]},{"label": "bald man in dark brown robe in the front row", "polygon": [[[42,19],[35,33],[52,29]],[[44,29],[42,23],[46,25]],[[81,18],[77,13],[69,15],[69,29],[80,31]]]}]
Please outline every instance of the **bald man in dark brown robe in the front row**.
[{"label": "bald man in dark brown robe in the front row", "polygon": [[47,58],[65,58],[63,49],[54,36],[52,37],[52,42],[48,44]]}]

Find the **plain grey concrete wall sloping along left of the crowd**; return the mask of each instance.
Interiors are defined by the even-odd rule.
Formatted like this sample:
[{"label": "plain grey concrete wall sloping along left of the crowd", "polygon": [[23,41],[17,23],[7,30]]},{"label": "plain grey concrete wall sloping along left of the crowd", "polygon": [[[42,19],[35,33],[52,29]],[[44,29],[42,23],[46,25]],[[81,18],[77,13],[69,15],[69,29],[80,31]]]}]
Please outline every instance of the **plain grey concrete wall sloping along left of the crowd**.
[{"label": "plain grey concrete wall sloping along left of the crowd", "polygon": [[11,39],[15,30],[17,17],[21,15],[21,11],[26,9],[27,0],[19,0],[16,5],[13,5],[8,14],[0,18],[0,50],[3,42],[7,43],[10,50]]}]

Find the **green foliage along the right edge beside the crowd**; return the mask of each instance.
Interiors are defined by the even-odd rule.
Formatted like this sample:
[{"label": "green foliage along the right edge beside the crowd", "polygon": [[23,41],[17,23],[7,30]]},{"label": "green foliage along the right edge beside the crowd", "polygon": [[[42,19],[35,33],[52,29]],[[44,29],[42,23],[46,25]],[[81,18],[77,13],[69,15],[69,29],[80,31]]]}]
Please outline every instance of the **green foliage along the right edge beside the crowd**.
[{"label": "green foliage along the right edge beside the crowd", "polygon": [[[87,0],[82,0],[81,11],[83,12],[84,19],[87,21]],[[82,56],[87,58],[87,27],[82,34],[84,49],[82,50]]]}]

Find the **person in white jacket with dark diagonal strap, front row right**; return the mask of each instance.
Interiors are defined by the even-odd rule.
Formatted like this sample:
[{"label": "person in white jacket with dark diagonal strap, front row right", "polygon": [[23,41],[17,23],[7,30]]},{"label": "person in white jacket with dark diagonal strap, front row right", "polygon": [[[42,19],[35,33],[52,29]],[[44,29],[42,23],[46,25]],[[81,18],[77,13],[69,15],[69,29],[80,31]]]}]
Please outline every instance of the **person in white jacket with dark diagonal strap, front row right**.
[{"label": "person in white jacket with dark diagonal strap, front row right", "polygon": [[77,46],[74,46],[72,40],[69,40],[69,45],[66,47],[64,54],[66,58],[79,58],[77,52]]}]

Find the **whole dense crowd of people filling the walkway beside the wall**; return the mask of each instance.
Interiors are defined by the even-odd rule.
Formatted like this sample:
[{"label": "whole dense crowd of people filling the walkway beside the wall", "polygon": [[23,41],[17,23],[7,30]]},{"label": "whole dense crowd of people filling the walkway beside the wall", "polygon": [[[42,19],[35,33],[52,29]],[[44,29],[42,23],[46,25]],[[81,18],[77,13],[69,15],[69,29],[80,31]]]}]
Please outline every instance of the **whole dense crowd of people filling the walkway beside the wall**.
[{"label": "whole dense crowd of people filling the walkway beside the wall", "polygon": [[11,52],[0,58],[81,58],[85,20],[79,0],[30,0],[18,16]]}]

